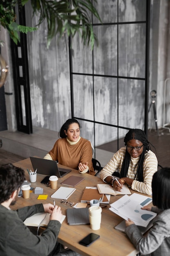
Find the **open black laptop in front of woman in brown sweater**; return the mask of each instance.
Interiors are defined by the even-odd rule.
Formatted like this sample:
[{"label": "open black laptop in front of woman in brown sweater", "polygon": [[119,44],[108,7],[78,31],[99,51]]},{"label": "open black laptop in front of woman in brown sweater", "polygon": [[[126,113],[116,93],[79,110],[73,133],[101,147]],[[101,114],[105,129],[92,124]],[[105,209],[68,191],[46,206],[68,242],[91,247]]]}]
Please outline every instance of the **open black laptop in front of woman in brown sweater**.
[{"label": "open black laptop in front of woman in brown sweater", "polygon": [[67,173],[71,172],[70,169],[58,168],[57,161],[47,160],[38,157],[30,157],[34,171],[37,169],[37,173],[47,176],[56,175],[58,178],[63,177]]}]

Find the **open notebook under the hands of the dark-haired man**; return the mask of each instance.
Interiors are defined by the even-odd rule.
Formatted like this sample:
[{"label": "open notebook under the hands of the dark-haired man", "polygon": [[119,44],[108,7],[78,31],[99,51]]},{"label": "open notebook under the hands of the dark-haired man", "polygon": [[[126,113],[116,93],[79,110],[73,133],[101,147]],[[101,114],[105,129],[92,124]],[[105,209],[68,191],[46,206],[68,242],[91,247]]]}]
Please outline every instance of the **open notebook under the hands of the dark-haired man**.
[{"label": "open notebook under the hands of the dark-haired man", "polygon": [[[60,223],[62,223],[65,218],[66,216],[63,215]],[[35,213],[33,216],[27,218],[24,221],[24,224],[30,227],[38,227],[39,225],[40,227],[46,227],[49,224],[49,221],[50,221],[50,213],[40,212],[40,213]]]}]

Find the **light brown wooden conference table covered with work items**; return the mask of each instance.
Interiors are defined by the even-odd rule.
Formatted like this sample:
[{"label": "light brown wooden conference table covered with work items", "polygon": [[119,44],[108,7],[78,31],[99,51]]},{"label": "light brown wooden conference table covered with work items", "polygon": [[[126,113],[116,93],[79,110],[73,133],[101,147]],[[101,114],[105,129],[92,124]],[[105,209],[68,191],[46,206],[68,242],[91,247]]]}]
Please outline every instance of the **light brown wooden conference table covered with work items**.
[{"label": "light brown wooden conference table covered with work items", "polygon": [[[26,168],[31,168],[33,170],[30,159],[29,158],[24,159],[20,162],[14,163],[14,165],[24,169],[26,179],[29,181],[29,175],[28,175],[28,172],[26,171]],[[60,164],[59,164],[59,167],[68,168]],[[97,183],[101,183],[101,184],[104,183],[99,177],[95,177],[93,175],[89,175],[86,173],[80,174],[77,170],[72,169],[70,173],[68,173],[62,178],[59,178],[57,189],[60,186],[64,186],[64,185],[61,185],[61,182],[71,175],[76,175],[76,176],[83,175],[83,177],[85,178],[82,182],[80,182],[77,186],[75,186],[76,191],[68,198],[68,201],[72,201],[75,203],[80,202],[84,188],[86,186],[96,186]],[[38,203],[44,204],[47,202],[50,202],[53,204],[53,198],[51,198],[51,195],[55,192],[55,190],[51,189],[50,186],[47,187],[46,185],[40,183],[44,177],[45,175],[37,174],[37,181],[35,183],[32,183],[31,186],[33,188],[35,188],[36,186],[42,187],[44,190],[43,194],[48,195],[48,198],[46,200],[38,200],[37,199],[38,195],[34,194],[33,192],[33,193],[30,193],[29,199],[24,199],[22,197],[19,197],[16,204],[11,208],[15,210],[24,206],[38,204]],[[131,191],[131,192],[133,193],[134,191]],[[121,195],[116,195],[116,196],[111,195],[110,204],[115,202],[120,197]],[[70,206],[67,206],[66,204],[61,204],[60,201],[61,201],[60,199],[55,199],[55,204],[59,205],[62,209],[62,213],[66,215],[66,209],[68,209]],[[89,205],[87,207],[89,207]],[[138,252],[135,249],[135,247],[132,245],[132,243],[126,236],[126,234],[114,229],[114,227],[117,224],[119,224],[121,221],[122,221],[121,217],[117,216],[115,213],[109,210],[109,204],[108,204],[107,208],[102,209],[102,222],[101,222],[101,228],[99,230],[93,231],[90,228],[90,225],[70,226],[67,224],[67,218],[65,218],[59,232],[58,241],[83,256],[136,255]],[[98,234],[100,238],[96,240],[89,247],[79,245],[78,243],[79,240],[81,240],[91,232]]]}]

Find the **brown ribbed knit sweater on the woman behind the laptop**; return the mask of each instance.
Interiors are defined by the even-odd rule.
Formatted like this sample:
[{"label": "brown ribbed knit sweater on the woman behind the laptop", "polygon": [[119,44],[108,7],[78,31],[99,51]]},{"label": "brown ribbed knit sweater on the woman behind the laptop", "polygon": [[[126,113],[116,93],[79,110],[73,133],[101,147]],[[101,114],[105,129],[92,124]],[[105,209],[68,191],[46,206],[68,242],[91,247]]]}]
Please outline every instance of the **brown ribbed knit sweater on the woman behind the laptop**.
[{"label": "brown ribbed knit sweater on the woman behind the laptop", "polygon": [[69,144],[66,138],[58,139],[49,154],[59,164],[76,170],[78,170],[79,163],[88,162],[88,173],[95,175],[92,164],[91,142],[87,139],[81,137],[74,145]]}]

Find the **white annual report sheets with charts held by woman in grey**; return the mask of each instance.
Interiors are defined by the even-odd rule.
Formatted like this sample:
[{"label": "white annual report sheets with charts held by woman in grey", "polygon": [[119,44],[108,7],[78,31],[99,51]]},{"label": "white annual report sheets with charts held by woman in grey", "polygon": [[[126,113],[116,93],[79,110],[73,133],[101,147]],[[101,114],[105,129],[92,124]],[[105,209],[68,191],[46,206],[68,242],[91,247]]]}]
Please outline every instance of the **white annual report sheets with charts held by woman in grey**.
[{"label": "white annual report sheets with charts held by woman in grey", "polygon": [[[130,196],[124,195],[122,198],[110,204],[110,211],[113,211],[121,218],[132,220],[136,225],[147,227],[150,220],[157,216],[156,213],[152,211],[142,210],[141,207],[151,202],[152,198],[141,198],[142,195],[137,193]],[[145,196],[143,196],[145,197]],[[143,203],[142,203],[143,202]],[[146,202],[146,203],[144,203]]]}]

